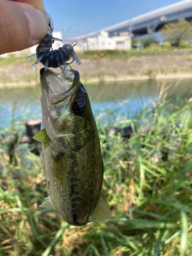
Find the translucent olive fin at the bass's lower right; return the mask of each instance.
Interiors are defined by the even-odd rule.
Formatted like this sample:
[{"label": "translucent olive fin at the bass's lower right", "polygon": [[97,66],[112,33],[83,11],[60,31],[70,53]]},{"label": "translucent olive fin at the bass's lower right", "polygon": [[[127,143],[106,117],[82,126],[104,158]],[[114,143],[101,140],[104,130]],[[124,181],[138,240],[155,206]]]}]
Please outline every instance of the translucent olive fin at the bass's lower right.
[{"label": "translucent olive fin at the bass's lower right", "polygon": [[96,206],[93,214],[89,218],[89,222],[105,221],[105,220],[109,219],[110,216],[111,216],[110,206],[109,206],[108,202],[106,202],[106,199],[101,194],[99,201],[97,203],[97,206]]}]

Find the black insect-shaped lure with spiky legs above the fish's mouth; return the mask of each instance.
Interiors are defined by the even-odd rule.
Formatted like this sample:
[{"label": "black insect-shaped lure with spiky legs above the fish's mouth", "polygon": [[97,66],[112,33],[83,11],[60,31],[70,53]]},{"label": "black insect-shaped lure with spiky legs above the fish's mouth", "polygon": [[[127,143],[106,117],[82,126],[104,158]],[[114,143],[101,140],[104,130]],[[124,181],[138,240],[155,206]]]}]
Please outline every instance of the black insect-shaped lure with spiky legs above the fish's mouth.
[{"label": "black insect-shaped lure with spiky legs above the fish's mouth", "polygon": [[75,46],[75,43],[73,42],[72,45],[70,44],[63,45],[62,47],[59,47],[59,49],[53,51],[52,44],[54,43],[54,41],[62,41],[62,40],[53,37],[52,19],[47,12],[44,12],[44,13],[49,23],[48,34],[45,36],[45,39],[42,40],[40,44],[37,46],[36,54],[33,54],[27,57],[26,59],[37,57],[37,61],[31,66],[31,68],[37,65],[39,62],[41,62],[45,66],[45,71],[47,70],[47,68],[59,67],[62,73],[65,73],[66,61],[70,60],[70,58],[72,58],[73,61],[75,60],[77,65],[81,63],[73,49],[73,47]]}]

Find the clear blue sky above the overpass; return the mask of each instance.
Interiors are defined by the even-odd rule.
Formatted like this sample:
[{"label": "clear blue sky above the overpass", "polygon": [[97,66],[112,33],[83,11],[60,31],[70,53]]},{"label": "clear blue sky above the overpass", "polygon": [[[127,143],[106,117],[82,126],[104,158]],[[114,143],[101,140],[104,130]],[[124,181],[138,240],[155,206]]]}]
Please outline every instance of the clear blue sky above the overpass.
[{"label": "clear blue sky above the overpass", "polygon": [[63,39],[91,33],[177,2],[180,1],[44,0],[54,31],[61,31]]}]

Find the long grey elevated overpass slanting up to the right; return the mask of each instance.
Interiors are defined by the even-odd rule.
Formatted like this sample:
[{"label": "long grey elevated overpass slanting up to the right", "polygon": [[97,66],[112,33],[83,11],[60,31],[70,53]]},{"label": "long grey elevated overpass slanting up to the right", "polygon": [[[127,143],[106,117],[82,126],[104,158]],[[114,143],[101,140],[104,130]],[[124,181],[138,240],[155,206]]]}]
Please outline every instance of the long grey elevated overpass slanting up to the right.
[{"label": "long grey elevated overpass slanting up to the right", "polygon": [[[109,36],[118,35],[121,32],[130,32],[132,37],[153,34],[161,29],[166,23],[176,22],[178,19],[192,20],[192,0],[181,1],[166,7],[157,9],[143,15],[127,19],[114,26],[102,29]],[[85,40],[100,34],[101,30],[72,38],[74,41]]]}]

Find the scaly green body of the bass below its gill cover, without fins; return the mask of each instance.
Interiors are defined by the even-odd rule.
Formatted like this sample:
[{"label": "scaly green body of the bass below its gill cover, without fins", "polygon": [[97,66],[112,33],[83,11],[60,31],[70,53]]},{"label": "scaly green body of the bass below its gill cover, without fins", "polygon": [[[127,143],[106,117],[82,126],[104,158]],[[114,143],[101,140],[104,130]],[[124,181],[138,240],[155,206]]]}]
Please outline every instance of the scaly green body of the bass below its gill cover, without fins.
[{"label": "scaly green body of the bass below its gill cover, without fins", "polygon": [[103,162],[98,142],[88,142],[71,154],[55,154],[50,143],[42,152],[51,202],[71,225],[86,224],[101,195]]}]

